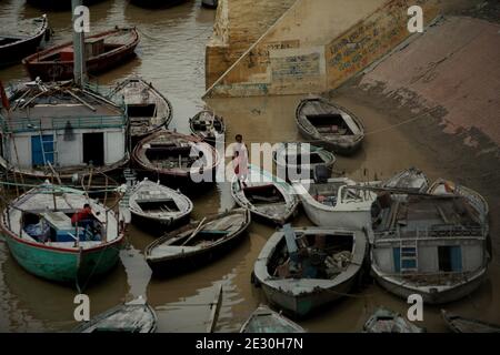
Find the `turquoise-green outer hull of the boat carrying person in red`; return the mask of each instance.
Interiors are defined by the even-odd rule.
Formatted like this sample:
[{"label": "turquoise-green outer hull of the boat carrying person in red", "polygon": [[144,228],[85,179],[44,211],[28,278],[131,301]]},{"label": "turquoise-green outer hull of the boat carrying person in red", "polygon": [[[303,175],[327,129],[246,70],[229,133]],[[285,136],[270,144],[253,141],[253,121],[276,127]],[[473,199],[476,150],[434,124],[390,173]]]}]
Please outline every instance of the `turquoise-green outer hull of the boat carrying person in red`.
[{"label": "turquoise-green outer hull of the boat carrying person in red", "polygon": [[10,253],[29,273],[61,283],[86,284],[91,277],[102,275],[119,258],[121,241],[81,253],[48,248],[20,242],[3,234]]}]

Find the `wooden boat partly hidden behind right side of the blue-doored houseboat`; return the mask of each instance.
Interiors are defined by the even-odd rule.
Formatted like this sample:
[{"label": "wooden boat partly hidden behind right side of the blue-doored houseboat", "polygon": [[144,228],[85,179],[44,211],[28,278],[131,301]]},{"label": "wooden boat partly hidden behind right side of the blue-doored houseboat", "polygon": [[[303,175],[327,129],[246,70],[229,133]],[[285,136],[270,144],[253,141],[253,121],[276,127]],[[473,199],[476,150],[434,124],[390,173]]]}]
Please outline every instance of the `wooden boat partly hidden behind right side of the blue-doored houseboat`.
[{"label": "wooden boat partly hidden behind right side of the blue-doored houseboat", "polygon": [[172,121],[170,101],[143,79],[129,78],[118,83],[110,98],[124,102],[127,106],[132,144],[168,126]]}]

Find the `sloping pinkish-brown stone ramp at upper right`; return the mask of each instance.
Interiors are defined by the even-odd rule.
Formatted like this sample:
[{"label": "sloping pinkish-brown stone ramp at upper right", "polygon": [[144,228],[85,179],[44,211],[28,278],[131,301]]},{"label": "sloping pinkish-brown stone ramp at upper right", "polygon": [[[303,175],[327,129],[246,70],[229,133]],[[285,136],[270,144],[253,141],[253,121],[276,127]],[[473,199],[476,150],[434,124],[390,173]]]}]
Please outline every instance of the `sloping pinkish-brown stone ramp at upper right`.
[{"label": "sloping pinkish-brown stone ramp at upper right", "polygon": [[[360,81],[419,110],[439,108],[447,133],[478,129],[500,144],[500,24],[447,17]],[[473,136],[466,144],[477,145]]]}]

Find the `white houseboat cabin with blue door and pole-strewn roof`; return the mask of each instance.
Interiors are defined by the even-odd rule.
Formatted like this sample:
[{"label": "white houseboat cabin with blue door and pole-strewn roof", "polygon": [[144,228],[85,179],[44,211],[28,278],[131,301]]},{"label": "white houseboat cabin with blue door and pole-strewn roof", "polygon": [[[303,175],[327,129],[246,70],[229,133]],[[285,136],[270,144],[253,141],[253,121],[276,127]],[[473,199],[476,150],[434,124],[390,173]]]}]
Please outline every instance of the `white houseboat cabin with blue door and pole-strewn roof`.
[{"label": "white houseboat cabin with blue door and pole-strewn roof", "polygon": [[111,170],[128,160],[123,108],[71,83],[23,85],[0,111],[0,163],[37,178]]}]

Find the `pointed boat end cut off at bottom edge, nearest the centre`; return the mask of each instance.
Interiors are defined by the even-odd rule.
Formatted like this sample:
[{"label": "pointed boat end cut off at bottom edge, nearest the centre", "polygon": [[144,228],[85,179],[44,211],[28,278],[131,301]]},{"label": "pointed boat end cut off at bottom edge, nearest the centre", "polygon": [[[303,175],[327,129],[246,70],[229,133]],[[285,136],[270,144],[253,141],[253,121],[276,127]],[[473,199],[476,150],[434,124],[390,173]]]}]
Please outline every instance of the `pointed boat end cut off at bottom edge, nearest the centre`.
[{"label": "pointed boat end cut off at bottom edge, nearest the centre", "polygon": [[241,326],[240,333],[306,333],[297,323],[261,304]]}]

